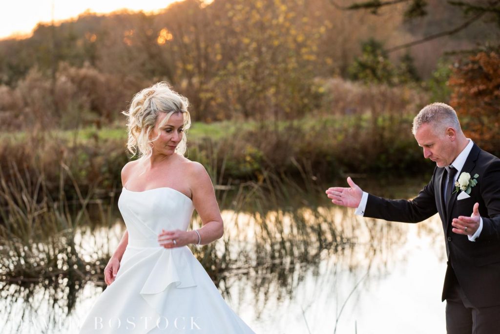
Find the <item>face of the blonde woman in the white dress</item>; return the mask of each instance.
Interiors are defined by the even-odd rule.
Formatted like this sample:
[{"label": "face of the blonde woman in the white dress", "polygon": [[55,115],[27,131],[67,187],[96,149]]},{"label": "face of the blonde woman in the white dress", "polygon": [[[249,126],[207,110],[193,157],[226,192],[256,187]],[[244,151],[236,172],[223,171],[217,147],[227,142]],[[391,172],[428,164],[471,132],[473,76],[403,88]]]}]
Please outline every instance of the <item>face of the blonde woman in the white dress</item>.
[{"label": "face of the blonde woman in the white dress", "polygon": [[166,116],[167,113],[160,113],[154,129],[151,131],[151,138],[156,138],[159,134],[158,139],[152,142],[153,154],[173,154],[182,139],[184,125],[182,113],[173,113],[166,124],[159,127],[158,125],[162,123]]}]

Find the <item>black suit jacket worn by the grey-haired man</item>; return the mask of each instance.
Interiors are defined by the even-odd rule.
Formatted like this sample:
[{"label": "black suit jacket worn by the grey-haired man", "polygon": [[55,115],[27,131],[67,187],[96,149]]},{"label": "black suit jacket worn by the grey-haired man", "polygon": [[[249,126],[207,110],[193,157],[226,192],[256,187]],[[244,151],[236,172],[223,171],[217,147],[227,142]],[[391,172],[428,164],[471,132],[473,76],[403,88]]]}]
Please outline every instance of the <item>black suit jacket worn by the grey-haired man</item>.
[{"label": "black suit jacket worn by the grey-haired man", "polygon": [[[449,297],[453,270],[473,306],[500,305],[500,159],[474,144],[459,173],[468,172],[471,177],[478,174],[478,182],[469,198],[457,200],[457,193],[452,194],[447,210],[442,199],[444,171],[436,167],[430,182],[409,201],[368,195],[364,216],[416,223],[439,212],[448,257],[442,300]],[[451,232],[451,220],[470,216],[476,202],[483,227],[471,242],[466,235]]]}]

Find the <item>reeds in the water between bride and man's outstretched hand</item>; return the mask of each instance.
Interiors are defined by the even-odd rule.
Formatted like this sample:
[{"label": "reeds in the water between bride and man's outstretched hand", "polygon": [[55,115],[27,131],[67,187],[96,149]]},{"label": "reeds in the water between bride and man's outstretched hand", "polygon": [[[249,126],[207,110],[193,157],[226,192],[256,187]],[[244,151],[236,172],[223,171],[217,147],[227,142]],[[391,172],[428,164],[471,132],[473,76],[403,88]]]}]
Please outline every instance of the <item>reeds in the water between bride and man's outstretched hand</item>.
[{"label": "reeds in the water between bride and man's outstretched hand", "polygon": [[[216,187],[226,232],[218,242],[192,247],[215,281],[227,272],[286,270],[318,262],[324,251],[335,252],[350,242],[338,225],[342,217],[325,210],[327,201],[318,199],[323,187],[297,167],[303,177],[298,182],[286,174],[262,171],[259,181]],[[195,216],[193,228],[200,224]]]}]

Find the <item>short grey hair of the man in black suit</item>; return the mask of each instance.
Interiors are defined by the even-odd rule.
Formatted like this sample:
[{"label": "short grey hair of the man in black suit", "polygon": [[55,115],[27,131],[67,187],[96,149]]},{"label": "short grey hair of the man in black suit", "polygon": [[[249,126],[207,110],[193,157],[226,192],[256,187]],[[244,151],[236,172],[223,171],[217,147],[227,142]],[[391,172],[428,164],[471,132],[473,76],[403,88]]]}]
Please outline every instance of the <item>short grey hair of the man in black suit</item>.
[{"label": "short grey hair of the man in black suit", "polygon": [[445,103],[431,103],[423,107],[422,110],[413,119],[413,135],[420,125],[425,123],[432,123],[432,129],[436,135],[444,135],[444,130],[448,127],[461,132],[460,122],[453,108]]}]

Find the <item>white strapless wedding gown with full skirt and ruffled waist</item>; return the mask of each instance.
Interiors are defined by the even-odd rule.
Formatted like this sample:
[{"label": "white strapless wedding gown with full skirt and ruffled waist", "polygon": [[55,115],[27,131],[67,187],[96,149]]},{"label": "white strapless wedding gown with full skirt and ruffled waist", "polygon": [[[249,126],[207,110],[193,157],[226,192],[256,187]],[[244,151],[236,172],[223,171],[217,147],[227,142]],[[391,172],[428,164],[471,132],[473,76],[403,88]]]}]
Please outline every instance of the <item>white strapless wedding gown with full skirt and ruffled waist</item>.
[{"label": "white strapless wedding gown with full skirt and ruffled waist", "polygon": [[95,301],[80,333],[253,333],[187,246],[158,245],[161,229],[187,230],[194,210],[187,196],[167,187],[123,188],[118,208],[128,245],[115,280]]}]

